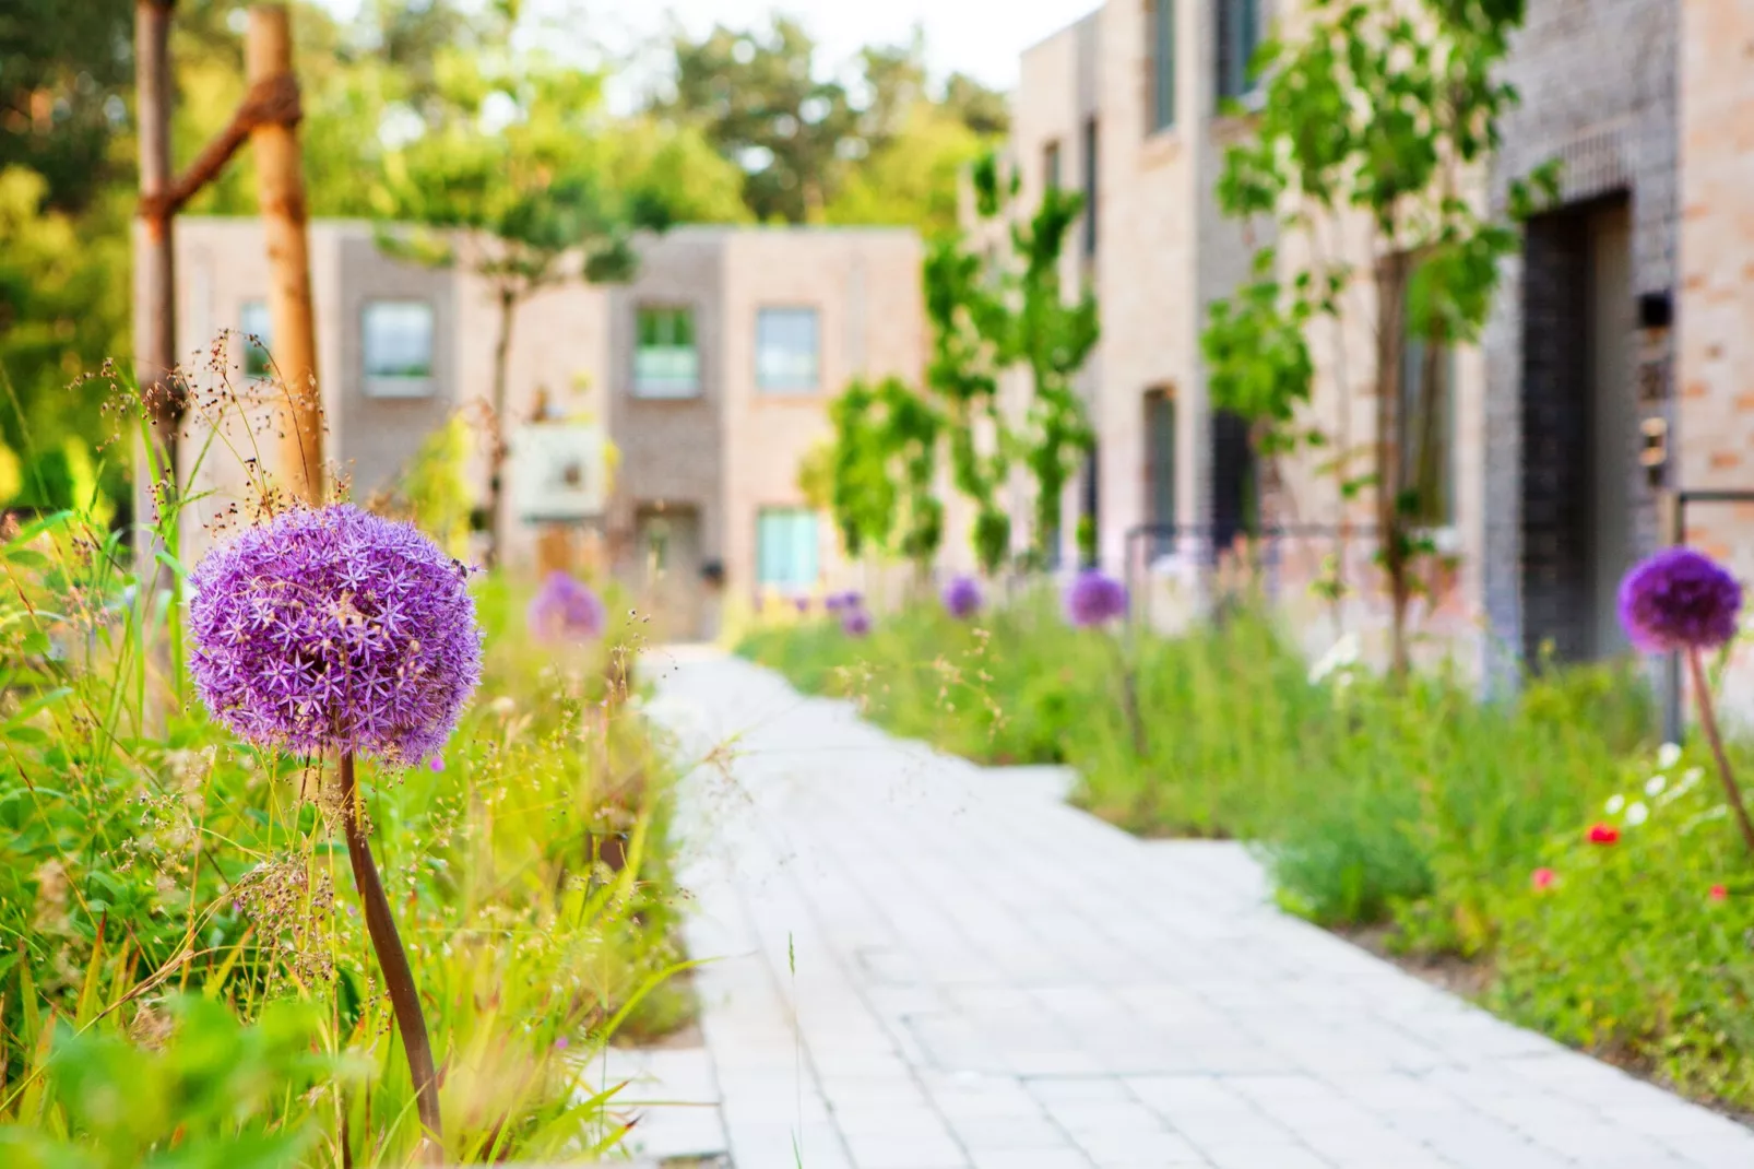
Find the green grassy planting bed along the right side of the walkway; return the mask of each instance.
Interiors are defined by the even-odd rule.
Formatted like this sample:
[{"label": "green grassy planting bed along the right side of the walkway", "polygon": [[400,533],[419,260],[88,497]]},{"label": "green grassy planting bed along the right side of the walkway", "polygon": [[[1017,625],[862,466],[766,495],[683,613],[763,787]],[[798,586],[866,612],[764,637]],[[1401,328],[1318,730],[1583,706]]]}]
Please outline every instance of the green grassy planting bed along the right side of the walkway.
[{"label": "green grassy planting bed along the right side of the walkway", "polygon": [[[1703,749],[1656,783],[1652,702],[1631,665],[1544,672],[1493,704],[1449,672],[1312,679],[1259,616],[1117,637],[1066,628],[1042,595],[973,625],[921,607],[859,641],[828,621],[765,627],[742,653],[807,692],[861,699],[896,734],[982,762],[1070,764],[1075,800],[1133,832],[1251,841],[1293,913],[1475,962],[1500,1013],[1754,1108],[1754,865],[1715,779],[1693,771]],[[1628,820],[1633,804],[1647,818]],[[1617,844],[1586,841],[1600,820]],[[1540,867],[1558,872],[1551,888],[1533,888]]]}]

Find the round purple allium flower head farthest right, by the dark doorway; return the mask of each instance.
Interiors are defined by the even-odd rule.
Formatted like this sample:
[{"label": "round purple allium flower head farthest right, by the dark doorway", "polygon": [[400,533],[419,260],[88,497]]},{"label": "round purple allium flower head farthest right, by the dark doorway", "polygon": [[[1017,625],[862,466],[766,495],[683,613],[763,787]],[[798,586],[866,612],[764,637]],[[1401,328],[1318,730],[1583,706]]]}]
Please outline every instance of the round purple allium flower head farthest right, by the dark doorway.
[{"label": "round purple allium flower head farthest right, by the dark doorway", "polygon": [[1621,581],[1621,625],[1645,653],[1715,649],[1736,635],[1742,584],[1703,553],[1666,548]]}]

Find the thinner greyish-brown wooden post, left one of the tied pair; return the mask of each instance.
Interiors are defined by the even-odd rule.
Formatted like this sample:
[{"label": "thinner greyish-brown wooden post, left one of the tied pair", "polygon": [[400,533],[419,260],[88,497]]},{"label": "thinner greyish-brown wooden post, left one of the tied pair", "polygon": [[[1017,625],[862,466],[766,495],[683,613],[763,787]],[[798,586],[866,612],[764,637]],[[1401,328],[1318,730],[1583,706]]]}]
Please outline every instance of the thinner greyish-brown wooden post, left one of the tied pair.
[{"label": "thinner greyish-brown wooden post, left one of the tied pair", "polygon": [[133,9],[140,139],[140,228],[133,249],[133,369],[140,402],[151,423],[146,449],[135,453],[133,521],[139,532],[135,565],[140,588],[153,593],[170,586],[170,572],[158,563],[160,546],[151,528],[174,504],[177,427],[182,423],[182,388],[172,376],[177,367],[177,272],[168,205],[175,181],[170,160],[174,2],[137,0]]}]

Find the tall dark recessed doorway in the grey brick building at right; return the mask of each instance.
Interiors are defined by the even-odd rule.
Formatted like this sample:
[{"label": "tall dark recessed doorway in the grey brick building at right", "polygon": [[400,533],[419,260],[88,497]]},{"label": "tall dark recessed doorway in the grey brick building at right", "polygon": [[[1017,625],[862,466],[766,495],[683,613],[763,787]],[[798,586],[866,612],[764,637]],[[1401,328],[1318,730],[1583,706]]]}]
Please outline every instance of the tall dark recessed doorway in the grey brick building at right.
[{"label": "tall dark recessed doorway in the grey brick building at right", "polygon": [[1631,214],[1615,197],[1537,216],[1522,269],[1522,655],[1626,649],[1633,558]]}]

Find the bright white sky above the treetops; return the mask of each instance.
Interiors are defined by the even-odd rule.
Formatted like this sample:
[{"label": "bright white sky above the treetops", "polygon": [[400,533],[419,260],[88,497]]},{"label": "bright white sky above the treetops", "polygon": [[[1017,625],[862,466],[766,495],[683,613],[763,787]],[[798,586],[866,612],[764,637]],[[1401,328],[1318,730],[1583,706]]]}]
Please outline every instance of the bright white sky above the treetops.
[{"label": "bright white sky above the treetops", "polygon": [[[340,16],[360,0],[317,0]],[[528,0],[526,0],[528,2]],[[1065,28],[1100,0],[568,0],[589,16],[610,51],[628,53],[661,37],[677,19],[691,33],[714,23],[765,26],[768,12],[796,16],[821,46],[824,65],[838,65],[865,44],[905,42],[917,23],[935,75],[965,72],[998,90],[1017,81],[1017,56]],[[530,7],[540,5],[537,0]]]}]

